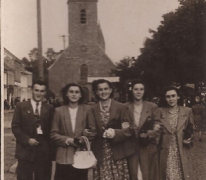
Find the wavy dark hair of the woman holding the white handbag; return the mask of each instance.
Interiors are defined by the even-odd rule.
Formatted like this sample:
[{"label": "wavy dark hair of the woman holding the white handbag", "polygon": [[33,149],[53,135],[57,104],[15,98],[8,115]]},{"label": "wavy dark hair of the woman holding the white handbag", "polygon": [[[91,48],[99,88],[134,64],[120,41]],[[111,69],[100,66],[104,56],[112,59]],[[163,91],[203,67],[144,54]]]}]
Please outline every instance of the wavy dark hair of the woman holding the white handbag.
[{"label": "wavy dark hair of the woman holding the white handbag", "polygon": [[68,104],[69,104],[70,101],[69,101],[69,98],[68,98],[68,96],[67,96],[67,93],[68,93],[69,88],[72,87],[72,86],[75,86],[75,87],[78,87],[78,88],[79,88],[80,93],[81,93],[81,97],[80,97],[78,103],[79,103],[79,104],[82,104],[82,103],[85,101],[85,93],[84,93],[83,88],[82,88],[80,85],[75,84],[75,83],[69,83],[69,84],[67,84],[65,87],[62,88],[61,94],[62,94],[63,103],[64,103],[65,105],[68,105]]}]

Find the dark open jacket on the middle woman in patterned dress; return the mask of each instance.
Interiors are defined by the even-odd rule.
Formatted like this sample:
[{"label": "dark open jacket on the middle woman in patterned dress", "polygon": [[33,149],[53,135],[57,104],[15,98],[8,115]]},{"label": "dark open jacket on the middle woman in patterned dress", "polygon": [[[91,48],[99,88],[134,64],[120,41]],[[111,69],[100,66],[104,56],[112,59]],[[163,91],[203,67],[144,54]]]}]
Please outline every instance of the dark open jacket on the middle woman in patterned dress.
[{"label": "dark open jacket on the middle woman in patterned dress", "polygon": [[[127,108],[125,105],[112,100],[108,123],[111,125],[111,128],[115,129],[115,127],[122,127],[123,122],[128,122],[128,125],[131,124],[126,109]],[[91,129],[93,132],[96,132],[96,136],[92,140],[91,148],[97,158],[97,162],[101,163],[103,161],[103,133],[105,130],[103,129],[101,123],[99,104],[94,105],[89,111],[87,123],[87,128]],[[115,129],[115,137],[113,139],[108,139],[113,152],[114,160],[125,158],[136,152],[135,142],[132,137],[131,130],[129,128],[117,128]]]}]

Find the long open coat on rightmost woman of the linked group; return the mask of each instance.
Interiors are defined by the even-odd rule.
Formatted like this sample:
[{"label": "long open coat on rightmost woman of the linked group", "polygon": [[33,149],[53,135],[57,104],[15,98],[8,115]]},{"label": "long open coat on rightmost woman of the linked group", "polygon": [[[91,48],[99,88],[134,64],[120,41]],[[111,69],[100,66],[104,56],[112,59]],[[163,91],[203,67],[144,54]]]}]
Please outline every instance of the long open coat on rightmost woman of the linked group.
[{"label": "long open coat on rightmost woman of the linked group", "polygon": [[[169,147],[171,143],[171,126],[168,118],[168,108],[159,108],[154,115],[156,120],[159,120],[163,125],[163,132],[160,138],[160,152],[159,152],[159,168],[160,168],[160,180],[166,179],[166,165],[167,157],[169,153]],[[188,107],[179,107],[178,112],[178,123],[177,123],[177,141],[178,149],[180,153],[180,160],[183,169],[184,180],[195,180],[192,173],[192,162],[190,157],[190,149],[183,147],[183,134],[188,123],[193,123],[193,114],[192,110]]]}]

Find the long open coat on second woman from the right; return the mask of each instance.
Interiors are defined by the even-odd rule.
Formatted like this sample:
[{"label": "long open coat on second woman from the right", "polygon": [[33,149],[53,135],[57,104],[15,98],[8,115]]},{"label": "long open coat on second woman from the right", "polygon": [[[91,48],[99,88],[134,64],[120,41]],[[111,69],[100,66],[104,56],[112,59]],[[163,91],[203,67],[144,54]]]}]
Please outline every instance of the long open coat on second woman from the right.
[{"label": "long open coat on second woman from the right", "polygon": [[[134,122],[134,104],[128,102],[125,104],[127,106],[127,111],[129,113],[130,119],[135,126]],[[141,131],[144,124],[148,121],[153,120],[154,111],[157,109],[157,105],[148,101],[143,101],[142,112],[140,114],[139,120],[139,131]],[[139,136],[139,134],[137,134]],[[138,148],[137,156],[140,163],[140,168],[142,171],[143,180],[158,180],[158,149],[156,144],[149,143],[147,146],[142,146],[139,142],[139,137],[135,140],[136,146]],[[137,163],[134,161],[136,157],[130,157],[128,159],[130,164],[131,173],[137,171]]]}]

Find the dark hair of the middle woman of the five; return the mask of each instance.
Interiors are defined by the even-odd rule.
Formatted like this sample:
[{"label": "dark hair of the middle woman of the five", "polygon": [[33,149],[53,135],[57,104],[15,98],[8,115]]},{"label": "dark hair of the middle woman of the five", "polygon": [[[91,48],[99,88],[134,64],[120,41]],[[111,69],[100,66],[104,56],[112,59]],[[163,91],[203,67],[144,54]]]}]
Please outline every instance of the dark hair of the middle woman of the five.
[{"label": "dark hair of the middle woman of the five", "polygon": [[112,97],[114,96],[114,87],[113,87],[112,83],[111,83],[110,81],[106,80],[106,79],[98,79],[98,80],[94,80],[94,81],[92,82],[92,91],[93,91],[93,93],[94,93],[94,95],[95,95],[95,98],[96,98],[97,100],[100,100],[100,98],[99,98],[99,96],[97,95],[96,92],[97,92],[97,90],[98,90],[98,85],[99,85],[99,84],[102,84],[102,83],[107,83],[108,86],[112,89],[112,92],[111,92],[111,94],[110,94],[110,98],[112,98]]}]

